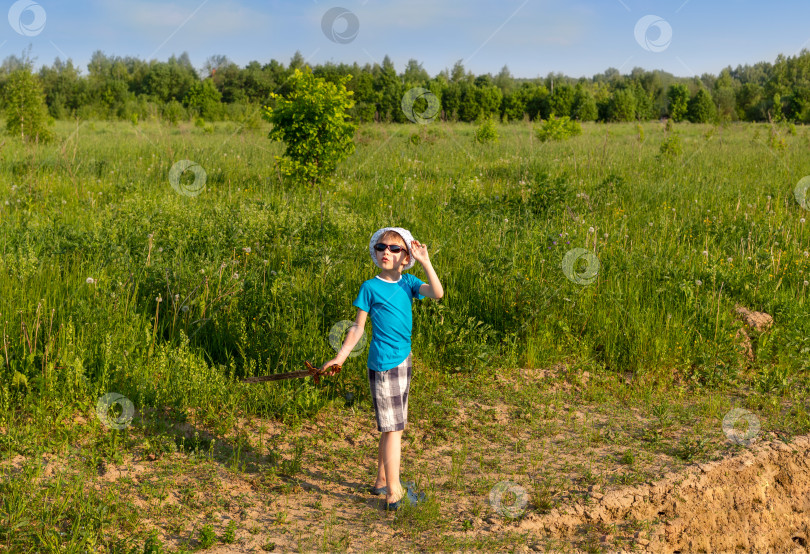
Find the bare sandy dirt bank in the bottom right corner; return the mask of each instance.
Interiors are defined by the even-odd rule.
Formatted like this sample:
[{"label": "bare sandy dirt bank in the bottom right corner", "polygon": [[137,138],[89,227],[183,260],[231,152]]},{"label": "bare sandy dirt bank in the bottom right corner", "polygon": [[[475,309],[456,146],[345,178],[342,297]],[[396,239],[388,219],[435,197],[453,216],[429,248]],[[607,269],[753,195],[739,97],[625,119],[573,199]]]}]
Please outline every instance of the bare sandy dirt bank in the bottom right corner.
[{"label": "bare sandy dirt bank in the bottom right corner", "polygon": [[[808,451],[807,435],[789,445],[762,443],[655,483],[604,495],[591,492],[588,499],[562,510],[531,513],[519,527],[536,530],[538,538],[574,544],[594,529],[604,529],[600,542],[610,551],[615,550],[609,546],[613,540],[623,538],[627,550],[636,543],[662,553],[810,552]],[[620,529],[633,520],[652,525],[621,537]]]}]

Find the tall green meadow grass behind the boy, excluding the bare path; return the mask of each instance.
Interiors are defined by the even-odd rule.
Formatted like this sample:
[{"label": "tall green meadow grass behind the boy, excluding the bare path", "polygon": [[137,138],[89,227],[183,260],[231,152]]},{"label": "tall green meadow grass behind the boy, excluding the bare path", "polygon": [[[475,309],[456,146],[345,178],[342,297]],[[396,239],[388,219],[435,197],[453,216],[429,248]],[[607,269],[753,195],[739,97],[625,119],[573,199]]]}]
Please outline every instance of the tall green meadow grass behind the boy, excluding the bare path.
[{"label": "tall green meadow grass behind the boy, excluding the bare path", "polygon": [[[586,124],[555,143],[518,123],[478,144],[474,125],[363,126],[320,191],[323,219],[319,191],[282,182],[266,129],[60,123],[51,146],[8,140],[0,418],[108,391],[139,408],[282,417],[367,397],[365,352],[326,387],[235,380],[334,355],[328,332],[354,319],[360,283],[377,273],[369,237],[389,225],[428,245],[445,290],[414,304],[421,363],[568,359],[697,387],[784,388],[810,352],[810,214],[793,198],[810,173],[807,129],[777,128],[781,146],[763,124],[679,124],[673,157],[660,154],[662,124],[641,127]],[[207,173],[196,197],[168,181],[183,159]],[[591,285],[563,274],[575,247],[598,257]],[[754,367],[737,348],[737,303],[775,318]],[[774,372],[784,379],[768,381]]]}]

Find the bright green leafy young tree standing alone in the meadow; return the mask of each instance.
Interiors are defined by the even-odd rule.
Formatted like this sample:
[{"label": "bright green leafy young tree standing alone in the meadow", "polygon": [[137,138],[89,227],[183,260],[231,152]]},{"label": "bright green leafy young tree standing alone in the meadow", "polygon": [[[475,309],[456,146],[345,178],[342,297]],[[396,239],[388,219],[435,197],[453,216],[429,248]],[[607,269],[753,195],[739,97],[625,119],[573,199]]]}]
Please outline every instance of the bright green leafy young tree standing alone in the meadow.
[{"label": "bright green leafy young tree standing alone in the meadow", "polygon": [[269,138],[287,145],[284,157],[276,160],[296,181],[320,189],[337,164],[354,152],[357,124],[347,121],[354,106],[345,86],[349,79],[346,75],[331,83],[315,77],[309,67],[296,69],[288,81],[289,95],[270,95],[276,105],[265,106],[262,115],[273,124]]}]

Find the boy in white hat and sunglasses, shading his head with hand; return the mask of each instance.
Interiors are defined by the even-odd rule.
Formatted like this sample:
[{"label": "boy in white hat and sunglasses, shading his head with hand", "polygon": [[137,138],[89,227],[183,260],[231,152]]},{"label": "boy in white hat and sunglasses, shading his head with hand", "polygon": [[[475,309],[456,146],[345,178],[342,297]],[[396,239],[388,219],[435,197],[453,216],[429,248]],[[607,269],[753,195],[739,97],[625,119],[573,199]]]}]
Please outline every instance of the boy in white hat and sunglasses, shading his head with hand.
[{"label": "boy in white hat and sunglasses, shading his head with hand", "polygon": [[[371,314],[373,336],[368,352],[368,382],[371,390],[377,430],[382,433],[377,455],[375,494],[386,495],[386,509],[397,510],[404,501],[415,505],[425,500],[417,496],[409,483],[407,492],[399,480],[402,431],[408,422],[408,392],[411,386],[411,328],[413,299],[435,300],[444,296],[439,278],[430,263],[427,246],[414,240],[401,227],[385,227],[371,237],[371,259],[382,271],[364,281],[353,305],[357,307],[355,325],[346,335],[338,355],[321,366],[343,365],[363,335],[366,316]],[[427,273],[424,283],[402,272],[418,261]],[[388,485],[388,486],[386,486]]]}]

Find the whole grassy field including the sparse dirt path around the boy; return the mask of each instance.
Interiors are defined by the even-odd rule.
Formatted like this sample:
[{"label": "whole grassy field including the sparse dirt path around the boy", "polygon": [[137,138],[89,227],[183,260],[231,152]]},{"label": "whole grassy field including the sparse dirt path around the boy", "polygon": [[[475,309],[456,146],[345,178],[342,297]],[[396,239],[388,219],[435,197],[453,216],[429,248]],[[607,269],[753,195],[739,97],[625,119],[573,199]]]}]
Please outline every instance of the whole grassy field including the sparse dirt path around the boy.
[{"label": "whole grassy field including the sparse dirt path around the boy", "polygon": [[[514,524],[738,452],[735,407],[754,440],[810,429],[805,127],[676,124],[666,155],[658,122],[485,145],[368,125],[322,196],[282,182],[263,127],[56,130],[0,147],[0,551],[510,549],[508,525],[465,534],[506,476],[530,498]],[[201,191],[170,183],[181,160]],[[445,290],[414,304],[403,436],[432,500],[396,516],[356,495],[376,472],[365,349],[318,386],[238,382],[334,356],[384,226],[428,245]],[[564,270],[574,248],[590,265]],[[773,316],[753,359],[737,305]],[[131,423],[97,416],[109,393]],[[618,548],[601,534],[568,544]]]}]

